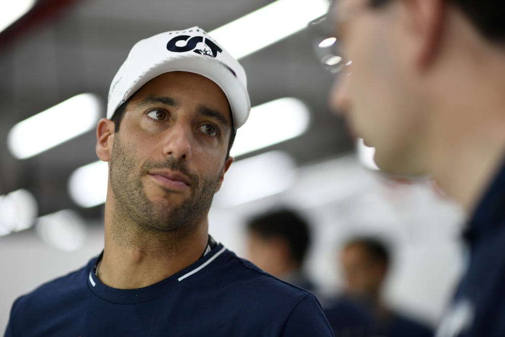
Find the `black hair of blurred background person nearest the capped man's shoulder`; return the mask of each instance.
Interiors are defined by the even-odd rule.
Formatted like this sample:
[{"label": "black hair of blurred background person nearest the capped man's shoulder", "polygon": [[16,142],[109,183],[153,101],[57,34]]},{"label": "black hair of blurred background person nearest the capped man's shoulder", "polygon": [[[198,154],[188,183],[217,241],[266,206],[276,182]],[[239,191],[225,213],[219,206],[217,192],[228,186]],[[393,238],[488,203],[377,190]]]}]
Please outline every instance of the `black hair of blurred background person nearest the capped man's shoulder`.
[{"label": "black hair of blurred background person nearest the capped man's shoulder", "polygon": [[289,208],[270,210],[250,218],[247,229],[265,239],[285,239],[291,258],[302,264],[310,244],[310,231],[307,221],[299,213]]}]

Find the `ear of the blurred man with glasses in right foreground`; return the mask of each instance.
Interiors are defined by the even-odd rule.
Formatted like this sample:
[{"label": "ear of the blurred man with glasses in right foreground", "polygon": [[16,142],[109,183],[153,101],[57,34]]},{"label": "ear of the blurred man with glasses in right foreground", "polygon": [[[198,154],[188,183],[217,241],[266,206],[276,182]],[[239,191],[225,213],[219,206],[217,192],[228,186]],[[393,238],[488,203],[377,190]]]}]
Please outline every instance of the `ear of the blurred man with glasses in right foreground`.
[{"label": "ear of the blurred man with glasses in right foreground", "polygon": [[437,55],[442,40],[445,0],[403,0],[408,17],[407,30],[414,36],[415,62],[428,66]]}]

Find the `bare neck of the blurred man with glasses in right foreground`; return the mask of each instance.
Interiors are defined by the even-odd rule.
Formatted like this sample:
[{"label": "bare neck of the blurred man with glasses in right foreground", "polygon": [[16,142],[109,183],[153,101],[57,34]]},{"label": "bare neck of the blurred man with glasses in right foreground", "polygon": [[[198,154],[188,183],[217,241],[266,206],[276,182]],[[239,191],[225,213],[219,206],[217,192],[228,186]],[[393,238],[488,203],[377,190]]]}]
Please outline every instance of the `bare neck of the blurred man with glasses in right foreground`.
[{"label": "bare neck of the blurred man with glasses in right foreground", "polygon": [[471,214],[505,160],[505,98],[500,89],[505,83],[489,77],[468,81],[473,91],[461,92],[435,112],[441,117],[426,148],[428,171]]}]

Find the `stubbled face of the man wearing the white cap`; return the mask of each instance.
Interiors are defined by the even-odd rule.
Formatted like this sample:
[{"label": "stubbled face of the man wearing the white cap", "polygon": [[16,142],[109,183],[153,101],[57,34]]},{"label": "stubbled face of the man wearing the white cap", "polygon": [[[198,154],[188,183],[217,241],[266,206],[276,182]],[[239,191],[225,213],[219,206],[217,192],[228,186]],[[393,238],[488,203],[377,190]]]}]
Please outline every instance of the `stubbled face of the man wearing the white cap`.
[{"label": "stubbled face of the man wearing the white cap", "polygon": [[130,99],[110,155],[115,208],[142,227],[190,229],[207,216],[232,159],[222,90],[195,73],[154,78]]}]

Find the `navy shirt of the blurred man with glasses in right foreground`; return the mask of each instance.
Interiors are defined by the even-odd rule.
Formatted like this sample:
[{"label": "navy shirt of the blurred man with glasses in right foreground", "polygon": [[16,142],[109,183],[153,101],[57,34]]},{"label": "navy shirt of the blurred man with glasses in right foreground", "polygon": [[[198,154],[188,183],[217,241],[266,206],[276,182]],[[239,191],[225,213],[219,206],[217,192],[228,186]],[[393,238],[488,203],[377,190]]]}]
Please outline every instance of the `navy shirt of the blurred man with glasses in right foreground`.
[{"label": "navy shirt of the blurred man with glasses in right foreground", "polygon": [[465,234],[467,271],[437,337],[505,336],[505,165]]}]

